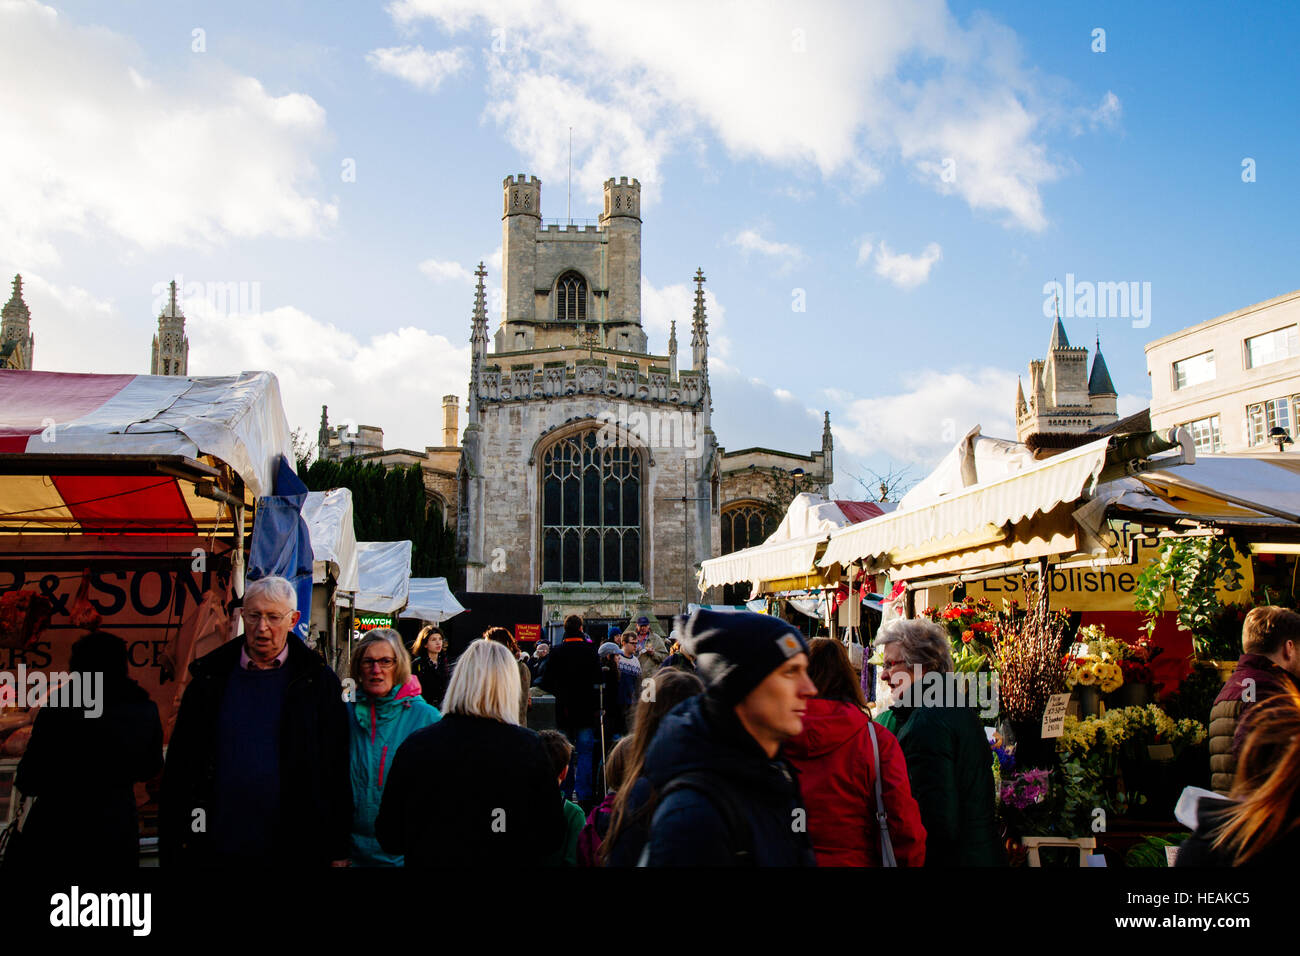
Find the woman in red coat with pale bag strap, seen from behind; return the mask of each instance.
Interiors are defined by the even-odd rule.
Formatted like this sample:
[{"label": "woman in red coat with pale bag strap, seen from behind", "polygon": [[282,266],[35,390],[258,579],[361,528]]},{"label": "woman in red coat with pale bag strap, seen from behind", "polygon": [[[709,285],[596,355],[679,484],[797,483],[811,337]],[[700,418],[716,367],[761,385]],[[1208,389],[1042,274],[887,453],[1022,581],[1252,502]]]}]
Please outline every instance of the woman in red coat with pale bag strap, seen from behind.
[{"label": "woman in red coat with pale bag strap, seen from behind", "polygon": [[[784,753],[800,773],[809,836],[819,866],[880,866],[875,758],[862,696],[840,641],[819,637],[809,645],[809,676],[818,696],[803,714],[803,732]],[[880,775],[889,840],[900,866],[926,862],[926,827],[907,783],[907,765],[893,734],[876,724]]]}]

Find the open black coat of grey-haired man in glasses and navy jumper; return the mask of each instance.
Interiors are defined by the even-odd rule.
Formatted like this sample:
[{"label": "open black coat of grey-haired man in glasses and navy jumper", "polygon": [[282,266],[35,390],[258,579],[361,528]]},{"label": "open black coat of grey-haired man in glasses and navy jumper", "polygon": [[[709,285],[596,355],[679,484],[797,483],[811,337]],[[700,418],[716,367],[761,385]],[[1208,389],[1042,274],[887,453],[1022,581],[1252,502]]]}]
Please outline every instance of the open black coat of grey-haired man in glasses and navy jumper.
[{"label": "open black coat of grey-haired man in glasses and navy jumper", "polygon": [[[346,860],[352,819],[348,786],[348,717],[343,688],[325,661],[292,635],[280,727],[281,812],[269,858],[282,865]],[[212,819],[217,791],[217,724],[243,639],[226,641],[192,665],[166,750],[159,800],[159,852],[164,865],[224,862],[224,847],[194,829],[196,812]]]}]

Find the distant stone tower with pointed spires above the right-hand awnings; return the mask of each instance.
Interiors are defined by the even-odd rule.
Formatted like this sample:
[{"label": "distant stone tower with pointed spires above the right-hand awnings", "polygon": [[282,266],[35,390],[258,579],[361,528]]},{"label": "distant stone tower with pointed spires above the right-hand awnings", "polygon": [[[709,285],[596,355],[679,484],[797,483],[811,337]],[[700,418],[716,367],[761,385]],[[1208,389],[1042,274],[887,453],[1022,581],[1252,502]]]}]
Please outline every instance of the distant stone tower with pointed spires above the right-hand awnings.
[{"label": "distant stone tower with pointed spires above the right-hand awnings", "polygon": [[1030,362],[1030,394],[1015,386],[1015,438],[1030,436],[1082,434],[1119,420],[1119,397],[1101,356],[1101,341],[1088,372],[1088,349],[1072,346],[1061,316],[1052,326],[1046,359]]}]

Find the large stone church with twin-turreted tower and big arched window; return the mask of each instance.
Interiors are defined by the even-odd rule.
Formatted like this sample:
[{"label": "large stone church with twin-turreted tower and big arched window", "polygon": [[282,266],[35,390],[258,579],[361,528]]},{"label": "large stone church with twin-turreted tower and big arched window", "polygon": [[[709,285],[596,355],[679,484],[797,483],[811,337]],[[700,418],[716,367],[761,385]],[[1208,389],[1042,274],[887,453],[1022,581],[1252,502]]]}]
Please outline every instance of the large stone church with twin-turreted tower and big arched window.
[{"label": "large stone church with twin-turreted tower and big arched window", "polygon": [[[551,622],[676,614],[701,600],[699,562],[775,528],[774,501],[829,489],[829,415],[807,455],[719,445],[703,272],[681,316],[689,351],[676,320],[663,351],[641,324],[637,179],[606,181],[588,225],[543,221],[536,177],[507,177],[502,203],[500,325],[489,333],[480,263],[462,445],[448,395],[442,446],[384,450],[381,429],[330,428],[322,411],[320,453],[421,463],[467,591],[540,593]],[[724,597],[744,594],[708,600]]]}]

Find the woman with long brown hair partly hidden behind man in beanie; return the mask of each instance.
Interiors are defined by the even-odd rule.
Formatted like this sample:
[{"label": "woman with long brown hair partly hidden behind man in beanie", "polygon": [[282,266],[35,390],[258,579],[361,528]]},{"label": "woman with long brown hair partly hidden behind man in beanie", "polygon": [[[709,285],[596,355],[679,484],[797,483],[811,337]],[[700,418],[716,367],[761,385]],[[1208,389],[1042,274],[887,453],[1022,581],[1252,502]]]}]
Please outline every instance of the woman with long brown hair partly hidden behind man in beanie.
[{"label": "woman with long brown hair partly hidden behind man in beanie", "polygon": [[[633,721],[632,734],[624,737],[615,753],[625,748],[623,762],[623,787],[614,799],[610,812],[610,826],[606,838],[601,843],[601,860],[608,866],[632,866],[636,858],[630,853],[619,853],[619,842],[625,845],[636,845],[637,852],[645,843],[645,834],[650,826],[650,817],[654,816],[653,793],[647,780],[638,779],[645,765],[646,750],[654,740],[655,731],[664,715],[684,700],[689,700],[705,692],[705,682],[689,671],[666,667],[659,670],[654,678],[653,693],[649,700],[642,697],[637,704],[637,714]],[[612,757],[611,757],[612,762]],[[624,839],[627,838],[627,839]]]}]

